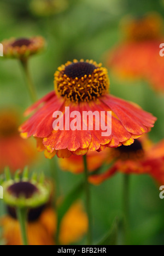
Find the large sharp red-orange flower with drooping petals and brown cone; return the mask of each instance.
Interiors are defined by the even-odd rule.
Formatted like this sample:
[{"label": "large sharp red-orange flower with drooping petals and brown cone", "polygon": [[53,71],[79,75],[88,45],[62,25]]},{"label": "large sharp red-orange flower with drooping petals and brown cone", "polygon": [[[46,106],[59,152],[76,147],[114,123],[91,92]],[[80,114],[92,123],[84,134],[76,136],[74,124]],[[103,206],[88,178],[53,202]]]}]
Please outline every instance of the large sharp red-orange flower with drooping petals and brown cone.
[{"label": "large sharp red-orange flower with drooping petals and brown cone", "polygon": [[[26,114],[32,115],[21,127],[22,137],[37,138],[38,150],[45,151],[47,158],[55,154],[58,157],[69,157],[71,154],[85,155],[88,150],[101,151],[106,147],[118,147],[121,144],[130,145],[134,138],[142,136],[154,126],[156,118],[144,112],[134,103],[126,102],[108,94],[109,79],[107,69],[93,61],[81,60],[67,62],[55,73],[55,92],[52,91],[29,108]],[[97,119],[93,117],[92,129],[87,118],[77,117],[76,120],[86,129],[69,129],[73,118],[65,112],[69,107],[70,113],[105,113],[103,118],[107,124],[107,112],[112,111],[112,134],[102,136],[101,127],[96,129]],[[53,129],[55,118],[53,114],[62,114],[65,127]],[[69,126],[66,128],[66,124]],[[109,126],[108,126],[109,127]]]}]

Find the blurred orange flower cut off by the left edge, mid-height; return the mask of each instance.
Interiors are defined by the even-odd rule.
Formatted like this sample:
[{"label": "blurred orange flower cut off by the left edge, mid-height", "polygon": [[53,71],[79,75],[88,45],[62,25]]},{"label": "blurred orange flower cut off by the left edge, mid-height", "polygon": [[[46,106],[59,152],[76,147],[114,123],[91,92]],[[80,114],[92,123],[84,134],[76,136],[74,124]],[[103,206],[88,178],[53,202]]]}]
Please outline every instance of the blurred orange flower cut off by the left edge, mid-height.
[{"label": "blurred orange flower cut off by the left edge, mid-height", "polygon": [[13,110],[0,110],[0,170],[9,166],[11,171],[23,168],[36,158],[33,144],[19,136],[19,120]]}]

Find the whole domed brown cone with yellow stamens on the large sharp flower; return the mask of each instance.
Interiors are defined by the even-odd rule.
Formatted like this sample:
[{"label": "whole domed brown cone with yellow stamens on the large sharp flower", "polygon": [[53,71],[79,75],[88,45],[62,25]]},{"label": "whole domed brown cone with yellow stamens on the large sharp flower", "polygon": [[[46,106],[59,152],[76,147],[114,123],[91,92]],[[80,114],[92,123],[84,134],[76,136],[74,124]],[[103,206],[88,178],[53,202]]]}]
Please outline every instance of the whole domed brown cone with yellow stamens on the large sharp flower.
[{"label": "whole domed brown cone with yellow stamens on the large sharp flower", "polygon": [[55,91],[71,102],[89,102],[107,93],[108,71],[92,60],[74,60],[55,72]]}]

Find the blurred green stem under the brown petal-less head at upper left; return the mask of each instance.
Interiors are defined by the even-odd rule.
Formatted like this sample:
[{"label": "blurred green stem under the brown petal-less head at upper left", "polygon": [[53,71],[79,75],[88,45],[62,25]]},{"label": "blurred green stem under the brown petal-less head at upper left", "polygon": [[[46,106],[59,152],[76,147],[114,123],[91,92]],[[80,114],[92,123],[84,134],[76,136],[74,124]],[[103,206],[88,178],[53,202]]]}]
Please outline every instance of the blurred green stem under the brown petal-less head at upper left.
[{"label": "blurred green stem under the brown petal-less head at upper left", "polygon": [[21,65],[22,65],[24,73],[25,73],[25,77],[26,77],[26,81],[27,81],[27,83],[26,83],[27,89],[30,93],[31,100],[34,103],[37,101],[37,92],[36,92],[35,86],[31,79],[30,71],[28,68],[28,60],[21,60]]}]

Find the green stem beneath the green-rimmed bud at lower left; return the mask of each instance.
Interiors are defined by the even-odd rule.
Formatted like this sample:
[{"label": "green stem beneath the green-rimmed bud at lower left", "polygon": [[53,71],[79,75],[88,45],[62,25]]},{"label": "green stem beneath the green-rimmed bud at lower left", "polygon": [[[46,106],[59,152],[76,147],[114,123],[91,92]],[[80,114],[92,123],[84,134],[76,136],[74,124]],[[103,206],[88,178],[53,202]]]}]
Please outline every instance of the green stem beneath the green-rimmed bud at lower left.
[{"label": "green stem beneath the green-rimmed bud at lower left", "polygon": [[28,245],[27,240],[27,209],[26,208],[17,208],[17,219],[19,220],[20,228],[21,228],[21,236],[23,245]]}]

